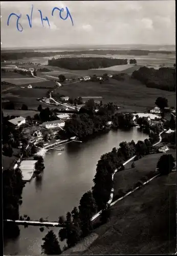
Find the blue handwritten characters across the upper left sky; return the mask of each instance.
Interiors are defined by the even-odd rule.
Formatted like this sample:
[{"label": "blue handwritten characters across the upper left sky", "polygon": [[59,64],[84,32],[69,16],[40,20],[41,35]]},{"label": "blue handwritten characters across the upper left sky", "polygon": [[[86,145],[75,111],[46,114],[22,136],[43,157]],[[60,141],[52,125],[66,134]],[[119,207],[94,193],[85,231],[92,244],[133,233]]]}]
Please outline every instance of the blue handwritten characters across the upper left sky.
[{"label": "blue handwritten characters across the upper left sky", "polygon": [[[54,8],[53,8],[53,10],[52,10],[52,16],[54,15],[54,11],[55,11],[55,10],[58,10],[58,11],[59,11],[59,17],[60,17],[62,20],[66,20],[66,19],[68,19],[68,17],[69,17],[69,18],[71,19],[72,25],[74,26],[73,18],[72,18],[71,14],[70,14],[70,11],[69,11],[69,9],[68,9],[67,7],[65,7],[65,10],[67,11],[67,15],[66,15],[65,17],[63,17],[63,16],[61,15],[62,12],[64,11],[64,9],[63,9],[63,8],[59,9],[58,7],[54,7]],[[42,24],[42,26],[43,26],[43,20],[46,20],[46,21],[48,22],[49,27],[50,27],[50,23],[49,23],[48,17],[43,18],[41,10],[38,10],[38,11],[39,11],[39,13],[40,13],[40,19],[41,19],[41,24]],[[17,28],[17,30],[18,30],[19,32],[22,32],[24,29],[23,29],[23,27],[21,26],[21,24],[19,23],[19,19],[21,18],[21,14],[17,15],[16,13],[12,12],[12,13],[9,15],[9,17],[8,17],[7,26],[9,26],[10,18],[11,18],[11,16],[13,16],[13,15],[17,17],[17,20],[16,20],[16,28]],[[31,15],[29,16],[28,14],[26,14],[26,16],[27,16],[27,18],[28,18],[28,22],[29,22],[30,28],[32,28],[33,5],[32,5],[32,8],[31,8]],[[44,26],[43,26],[43,27],[44,27]]]}]

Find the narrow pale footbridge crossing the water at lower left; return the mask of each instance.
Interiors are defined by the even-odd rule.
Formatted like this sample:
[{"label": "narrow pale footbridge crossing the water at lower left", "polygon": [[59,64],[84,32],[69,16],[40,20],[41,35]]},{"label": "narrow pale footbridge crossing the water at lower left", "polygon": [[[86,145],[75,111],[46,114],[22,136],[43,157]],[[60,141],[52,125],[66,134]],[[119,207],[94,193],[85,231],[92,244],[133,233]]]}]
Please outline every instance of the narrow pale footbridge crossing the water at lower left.
[{"label": "narrow pale footbridge crossing the water at lower left", "polygon": [[19,221],[19,220],[3,220],[4,222],[12,222],[17,225],[23,226],[46,226],[46,227],[65,227],[64,224],[61,225],[58,222],[49,222],[49,221]]}]

